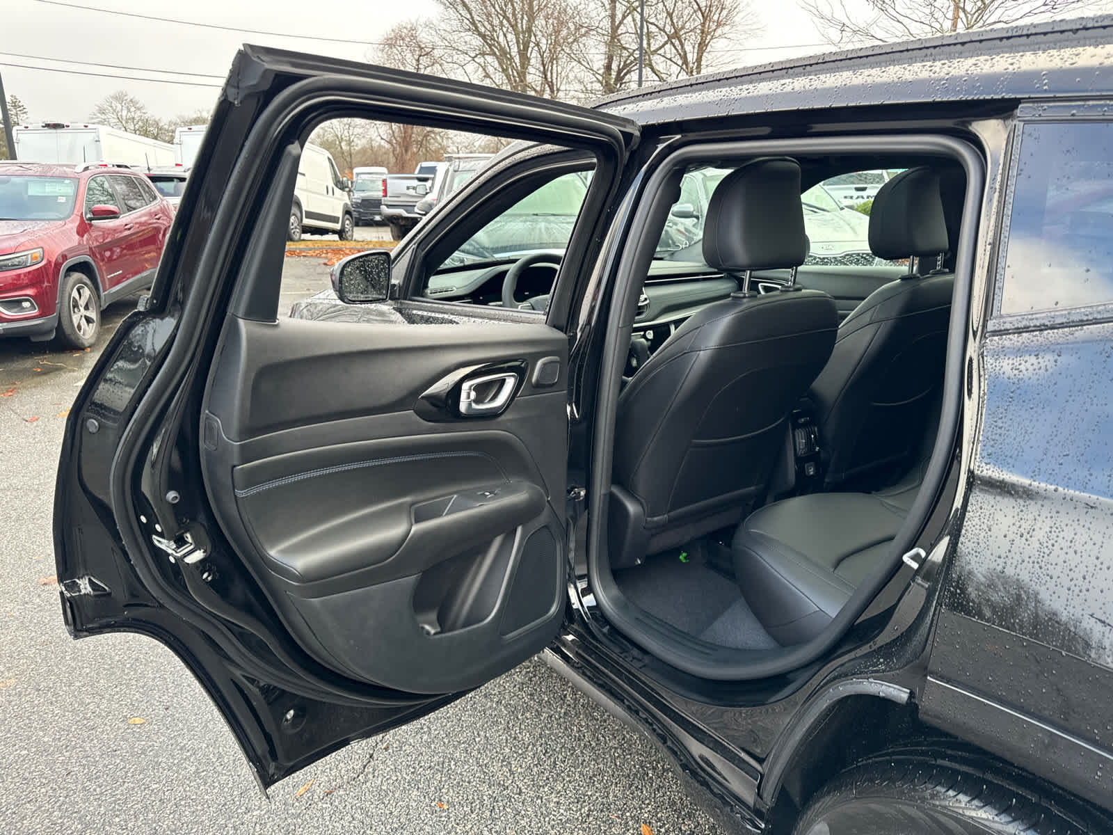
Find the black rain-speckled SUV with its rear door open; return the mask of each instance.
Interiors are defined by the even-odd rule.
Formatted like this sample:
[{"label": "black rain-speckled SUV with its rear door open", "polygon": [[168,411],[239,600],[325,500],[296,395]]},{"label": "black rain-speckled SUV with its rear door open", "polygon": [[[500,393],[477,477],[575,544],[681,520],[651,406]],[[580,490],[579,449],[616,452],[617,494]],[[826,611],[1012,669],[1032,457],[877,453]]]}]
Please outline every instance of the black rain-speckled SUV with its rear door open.
[{"label": "black rain-speckled SUV with its rear door open", "polygon": [[[170,647],[264,784],[541,651],[728,828],[1113,832],[1113,19],[594,109],[230,78],[69,415],[75,636]],[[520,141],[334,267],[366,316],[279,317],[301,143],[429,114]],[[874,261],[807,263],[869,170]]]}]

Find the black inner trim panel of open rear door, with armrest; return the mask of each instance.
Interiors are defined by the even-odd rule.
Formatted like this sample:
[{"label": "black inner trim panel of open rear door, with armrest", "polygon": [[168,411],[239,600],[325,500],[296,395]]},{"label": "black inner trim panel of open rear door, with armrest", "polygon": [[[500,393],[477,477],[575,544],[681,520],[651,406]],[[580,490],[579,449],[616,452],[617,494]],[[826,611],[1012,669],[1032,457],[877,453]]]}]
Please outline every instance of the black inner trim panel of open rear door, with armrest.
[{"label": "black inner trim panel of open rear door, with armrest", "polygon": [[[561,621],[567,337],[542,323],[229,317],[201,434],[213,507],[322,664],[410,692],[474,687]],[[535,383],[545,361],[556,381]],[[423,394],[520,364],[495,418]]]}]

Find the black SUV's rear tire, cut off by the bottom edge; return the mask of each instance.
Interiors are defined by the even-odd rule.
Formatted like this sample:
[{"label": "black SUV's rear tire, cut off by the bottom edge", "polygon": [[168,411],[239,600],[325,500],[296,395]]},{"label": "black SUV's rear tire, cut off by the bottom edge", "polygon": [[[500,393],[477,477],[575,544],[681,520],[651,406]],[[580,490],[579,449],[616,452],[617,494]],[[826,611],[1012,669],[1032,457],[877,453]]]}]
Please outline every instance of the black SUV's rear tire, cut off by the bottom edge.
[{"label": "black SUV's rear tire, cut off by the bottom edge", "polygon": [[898,756],[847,769],[804,809],[795,835],[1083,835],[1040,795],[977,768]]}]

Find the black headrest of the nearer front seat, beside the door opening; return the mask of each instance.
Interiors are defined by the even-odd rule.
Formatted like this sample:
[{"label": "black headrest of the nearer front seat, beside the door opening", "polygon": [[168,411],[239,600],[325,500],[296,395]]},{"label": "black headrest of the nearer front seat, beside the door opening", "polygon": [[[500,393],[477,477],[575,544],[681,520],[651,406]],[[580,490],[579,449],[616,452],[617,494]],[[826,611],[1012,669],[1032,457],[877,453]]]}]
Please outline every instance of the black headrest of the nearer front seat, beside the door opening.
[{"label": "black headrest of the nearer front seat, beside the door opening", "polygon": [[798,267],[808,256],[795,159],[756,159],[719,183],[707,207],[703,261],[727,273]]}]

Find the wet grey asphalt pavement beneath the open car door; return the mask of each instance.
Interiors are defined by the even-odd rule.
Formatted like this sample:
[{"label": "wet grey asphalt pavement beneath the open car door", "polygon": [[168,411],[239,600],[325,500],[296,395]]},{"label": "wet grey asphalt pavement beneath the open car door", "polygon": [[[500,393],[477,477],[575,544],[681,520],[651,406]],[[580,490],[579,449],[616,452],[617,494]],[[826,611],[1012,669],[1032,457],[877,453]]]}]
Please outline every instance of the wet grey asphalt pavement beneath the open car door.
[{"label": "wet grey asphalt pavement beneath the open car door", "polygon": [[[327,286],[327,267],[287,258],[283,297],[311,286]],[[106,330],[130,307],[107,311]],[[539,660],[263,797],[169,650],[130,635],[72,641],[62,626],[55,471],[67,409],[97,353],[0,341],[6,834],[715,832],[648,741]]]}]

